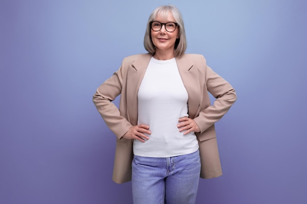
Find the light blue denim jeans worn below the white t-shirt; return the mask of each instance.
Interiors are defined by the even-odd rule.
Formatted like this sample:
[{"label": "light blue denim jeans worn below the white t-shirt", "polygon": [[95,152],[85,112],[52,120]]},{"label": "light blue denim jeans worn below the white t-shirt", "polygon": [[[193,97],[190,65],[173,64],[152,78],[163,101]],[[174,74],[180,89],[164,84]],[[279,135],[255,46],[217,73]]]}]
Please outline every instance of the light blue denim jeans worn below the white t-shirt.
[{"label": "light blue denim jeans worn below the white t-shirt", "polygon": [[134,155],[133,204],[195,204],[200,171],[198,150],[169,158]]}]

